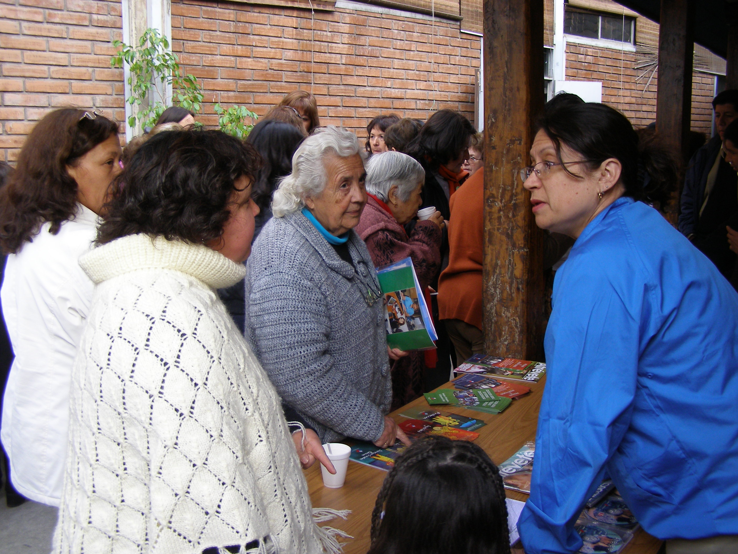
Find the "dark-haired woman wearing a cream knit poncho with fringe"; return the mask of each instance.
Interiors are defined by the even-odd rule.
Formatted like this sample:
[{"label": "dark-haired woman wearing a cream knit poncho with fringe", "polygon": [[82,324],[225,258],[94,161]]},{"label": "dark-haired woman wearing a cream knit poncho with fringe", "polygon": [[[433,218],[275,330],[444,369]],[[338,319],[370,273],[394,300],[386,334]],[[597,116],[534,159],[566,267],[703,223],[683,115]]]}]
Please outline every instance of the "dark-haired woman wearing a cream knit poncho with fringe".
[{"label": "dark-haired woman wearing a cream knit poncho with fringe", "polygon": [[[313,516],[280,399],[215,294],[244,277],[257,160],[220,131],[168,131],[120,176],[80,259],[96,287],[55,553],[339,550],[314,522],[330,517]],[[303,460],[325,456],[306,439]]]}]

